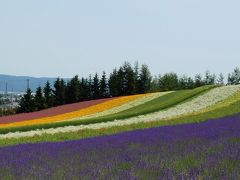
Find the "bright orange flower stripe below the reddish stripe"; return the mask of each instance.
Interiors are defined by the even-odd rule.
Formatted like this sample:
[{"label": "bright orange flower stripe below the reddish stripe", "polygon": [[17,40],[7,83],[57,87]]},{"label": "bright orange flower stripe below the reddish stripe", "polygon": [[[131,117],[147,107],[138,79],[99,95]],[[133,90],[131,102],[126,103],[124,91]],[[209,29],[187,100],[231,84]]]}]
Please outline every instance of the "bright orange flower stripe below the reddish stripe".
[{"label": "bright orange flower stripe below the reddish stripe", "polygon": [[113,99],[113,100],[110,100],[110,101],[107,101],[107,102],[104,102],[101,104],[97,104],[97,105],[94,105],[94,106],[91,106],[91,107],[88,107],[85,109],[81,109],[79,111],[64,113],[64,114],[46,117],[46,118],[33,119],[33,120],[28,120],[28,121],[14,122],[14,123],[9,123],[9,124],[1,124],[0,128],[46,124],[46,123],[52,123],[52,122],[58,122],[58,121],[63,121],[63,120],[67,120],[67,119],[82,117],[82,116],[102,112],[104,110],[120,106],[122,104],[125,104],[129,101],[133,101],[133,100],[138,99],[143,96],[145,96],[145,95],[139,94],[139,95],[119,97],[117,99]]}]

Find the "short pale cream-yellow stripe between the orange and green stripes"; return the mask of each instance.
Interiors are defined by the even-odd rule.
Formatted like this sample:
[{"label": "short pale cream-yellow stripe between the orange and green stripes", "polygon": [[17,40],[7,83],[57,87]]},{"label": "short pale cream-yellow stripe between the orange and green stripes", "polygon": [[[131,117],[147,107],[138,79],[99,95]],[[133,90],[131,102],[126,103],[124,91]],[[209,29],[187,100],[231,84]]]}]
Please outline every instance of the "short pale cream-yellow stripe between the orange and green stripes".
[{"label": "short pale cream-yellow stripe between the orange and green stripes", "polygon": [[118,112],[122,112],[122,111],[125,111],[125,110],[128,110],[128,109],[131,109],[133,107],[142,105],[144,103],[152,101],[153,99],[159,98],[159,97],[161,97],[163,95],[166,95],[168,93],[171,93],[171,92],[172,91],[145,94],[143,97],[140,97],[140,98],[138,98],[136,100],[133,100],[133,101],[129,101],[128,103],[123,104],[121,106],[117,106],[117,107],[114,107],[114,108],[111,108],[111,109],[108,109],[106,111],[102,111],[102,112],[99,112],[99,113],[83,116],[81,118],[74,118],[74,119],[69,119],[69,120],[71,121],[71,120],[90,119],[90,118],[96,118],[96,117],[106,116],[106,115],[110,115],[110,114],[115,114],[115,113],[118,113]]}]

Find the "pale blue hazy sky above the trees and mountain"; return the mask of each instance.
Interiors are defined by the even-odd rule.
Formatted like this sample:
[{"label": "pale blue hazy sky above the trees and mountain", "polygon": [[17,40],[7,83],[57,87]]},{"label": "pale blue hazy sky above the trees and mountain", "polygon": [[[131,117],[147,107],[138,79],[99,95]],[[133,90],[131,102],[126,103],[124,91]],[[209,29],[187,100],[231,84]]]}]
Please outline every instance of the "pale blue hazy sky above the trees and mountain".
[{"label": "pale blue hazy sky above the trees and mountain", "polygon": [[0,0],[0,74],[72,77],[240,66],[239,0]]}]

